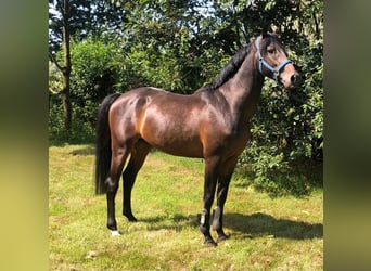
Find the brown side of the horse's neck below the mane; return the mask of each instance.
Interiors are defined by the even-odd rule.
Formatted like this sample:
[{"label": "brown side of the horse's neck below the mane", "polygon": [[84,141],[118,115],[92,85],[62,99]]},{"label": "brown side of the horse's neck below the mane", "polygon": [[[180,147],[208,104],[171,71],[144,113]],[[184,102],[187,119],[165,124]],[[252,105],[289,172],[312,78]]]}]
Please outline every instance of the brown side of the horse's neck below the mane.
[{"label": "brown side of the horse's neck below the mane", "polygon": [[218,90],[229,105],[234,125],[244,126],[250,121],[259,101],[263,82],[256,50],[252,50],[238,73]]}]

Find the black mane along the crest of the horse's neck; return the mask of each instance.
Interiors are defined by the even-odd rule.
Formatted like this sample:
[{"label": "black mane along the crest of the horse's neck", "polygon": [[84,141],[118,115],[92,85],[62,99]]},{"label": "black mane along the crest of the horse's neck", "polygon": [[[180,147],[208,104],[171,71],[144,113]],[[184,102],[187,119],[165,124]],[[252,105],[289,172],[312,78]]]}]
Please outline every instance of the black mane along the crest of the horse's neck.
[{"label": "black mane along the crest of the horse's neck", "polygon": [[236,54],[222,68],[220,74],[217,77],[215,77],[215,79],[212,82],[201,87],[197,91],[215,90],[219,88],[221,85],[223,85],[226,81],[228,81],[230,78],[232,78],[240,69],[246,55],[250,53],[251,47],[252,44],[250,43],[241,48],[236,52]]}]

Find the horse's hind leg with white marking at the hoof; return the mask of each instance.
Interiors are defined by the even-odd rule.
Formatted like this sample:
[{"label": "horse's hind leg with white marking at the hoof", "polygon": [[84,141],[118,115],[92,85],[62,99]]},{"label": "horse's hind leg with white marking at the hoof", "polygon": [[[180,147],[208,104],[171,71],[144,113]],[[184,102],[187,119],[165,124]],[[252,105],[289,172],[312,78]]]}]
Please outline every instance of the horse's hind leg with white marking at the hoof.
[{"label": "horse's hind leg with white marking at the hoof", "polygon": [[112,152],[110,177],[106,179],[106,201],[107,201],[107,228],[112,235],[118,235],[117,222],[115,218],[115,197],[118,190],[118,181],[123,171],[124,163],[128,156],[125,149]]}]

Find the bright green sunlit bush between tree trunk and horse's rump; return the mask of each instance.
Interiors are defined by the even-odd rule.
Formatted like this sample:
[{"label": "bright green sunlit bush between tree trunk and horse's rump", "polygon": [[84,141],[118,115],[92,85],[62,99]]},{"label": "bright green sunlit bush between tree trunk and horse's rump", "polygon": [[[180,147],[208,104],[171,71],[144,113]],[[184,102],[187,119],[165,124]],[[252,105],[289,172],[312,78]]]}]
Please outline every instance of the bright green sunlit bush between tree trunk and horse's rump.
[{"label": "bright green sunlit bush between tree trunk and horse's rump", "polygon": [[114,92],[119,80],[121,60],[113,44],[93,39],[72,47],[72,100],[80,120],[94,124],[101,100]]}]

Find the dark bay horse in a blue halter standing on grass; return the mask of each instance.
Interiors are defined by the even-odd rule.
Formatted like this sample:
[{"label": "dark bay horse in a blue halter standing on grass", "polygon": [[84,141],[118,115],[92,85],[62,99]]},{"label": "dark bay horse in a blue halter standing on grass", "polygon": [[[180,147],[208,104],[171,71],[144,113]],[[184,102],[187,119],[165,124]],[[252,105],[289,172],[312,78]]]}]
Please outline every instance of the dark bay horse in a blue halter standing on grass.
[{"label": "dark bay horse in a blue halter standing on grass", "polygon": [[213,228],[218,241],[229,183],[250,139],[248,122],[254,114],[265,76],[286,89],[298,85],[299,74],[286,57],[278,38],[265,34],[242,48],[208,85],[191,95],[143,87],[106,96],[99,109],[95,154],[95,192],[106,193],[107,228],[117,235],[115,196],[124,165],[123,214],[131,212],[131,189],[152,147],[165,153],[205,160],[203,209],[200,230],[205,243],[210,235],[210,208],[217,206]]}]

